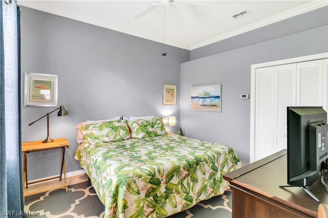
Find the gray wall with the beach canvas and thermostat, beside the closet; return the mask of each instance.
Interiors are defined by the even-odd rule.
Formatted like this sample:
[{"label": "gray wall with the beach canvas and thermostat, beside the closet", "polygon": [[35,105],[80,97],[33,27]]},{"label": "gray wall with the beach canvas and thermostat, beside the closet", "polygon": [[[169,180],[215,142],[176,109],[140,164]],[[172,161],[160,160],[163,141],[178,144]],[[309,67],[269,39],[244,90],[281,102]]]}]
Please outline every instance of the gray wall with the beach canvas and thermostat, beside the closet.
[{"label": "gray wall with the beach canvas and thermostat, beside the closet", "polygon": [[[325,17],[320,20],[320,24],[325,25],[318,27],[317,16]],[[249,164],[251,100],[242,100],[240,95],[251,92],[251,64],[328,52],[327,7],[299,15],[299,21],[296,18],[279,22],[281,30],[289,33],[288,27],[300,29],[304,20],[308,23],[312,20],[314,29],[306,24],[308,30],[290,35],[282,32],[281,37],[264,41],[259,35],[261,30],[255,30],[245,34],[245,46],[238,36],[226,41],[230,48],[218,42],[191,51],[191,59],[198,59],[182,63],[180,72],[180,125],[185,135],[229,145],[236,150],[243,165]],[[275,34],[279,24],[272,25],[273,29],[265,27],[264,30],[269,31],[266,35]],[[249,39],[253,40],[250,45]],[[215,52],[217,54],[211,55]],[[202,56],[207,57],[199,58]],[[191,111],[190,88],[210,84],[222,84],[222,112]]]}]

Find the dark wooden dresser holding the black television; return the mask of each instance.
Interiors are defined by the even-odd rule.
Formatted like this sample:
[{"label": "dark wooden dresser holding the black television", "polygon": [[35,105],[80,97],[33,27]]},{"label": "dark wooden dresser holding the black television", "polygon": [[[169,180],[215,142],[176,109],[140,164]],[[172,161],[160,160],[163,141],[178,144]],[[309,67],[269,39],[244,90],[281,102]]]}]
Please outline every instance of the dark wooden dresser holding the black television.
[{"label": "dark wooden dresser holding the black television", "polygon": [[[287,151],[277,152],[223,176],[233,191],[232,217],[317,217],[320,203],[299,187],[287,185]],[[325,181],[328,182],[328,181]],[[307,187],[321,203],[328,192],[318,179]]]}]

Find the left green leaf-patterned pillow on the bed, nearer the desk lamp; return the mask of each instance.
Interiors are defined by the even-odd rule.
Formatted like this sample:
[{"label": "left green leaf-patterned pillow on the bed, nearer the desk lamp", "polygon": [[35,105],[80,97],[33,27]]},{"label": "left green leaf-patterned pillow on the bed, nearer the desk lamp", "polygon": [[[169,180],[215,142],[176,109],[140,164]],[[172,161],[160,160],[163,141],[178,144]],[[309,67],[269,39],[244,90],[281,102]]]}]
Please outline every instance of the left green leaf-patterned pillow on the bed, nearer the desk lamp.
[{"label": "left green leaf-patterned pillow on the bed, nearer the desk lamp", "polygon": [[127,120],[92,123],[80,127],[86,144],[95,145],[130,139]]}]

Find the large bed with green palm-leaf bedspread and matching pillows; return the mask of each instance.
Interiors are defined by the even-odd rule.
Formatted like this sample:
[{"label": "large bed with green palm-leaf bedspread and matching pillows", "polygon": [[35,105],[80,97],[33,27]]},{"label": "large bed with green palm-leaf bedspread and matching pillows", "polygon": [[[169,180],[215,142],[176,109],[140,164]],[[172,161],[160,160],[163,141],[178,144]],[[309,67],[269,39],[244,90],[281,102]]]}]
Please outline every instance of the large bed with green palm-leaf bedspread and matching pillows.
[{"label": "large bed with green palm-leaf bedspread and matching pillows", "polygon": [[[85,123],[82,123],[85,124]],[[228,190],[241,166],[225,145],[167,134],[161,118],[79,125],[75,159],[86,170],[104,217],[166,217]]]}]

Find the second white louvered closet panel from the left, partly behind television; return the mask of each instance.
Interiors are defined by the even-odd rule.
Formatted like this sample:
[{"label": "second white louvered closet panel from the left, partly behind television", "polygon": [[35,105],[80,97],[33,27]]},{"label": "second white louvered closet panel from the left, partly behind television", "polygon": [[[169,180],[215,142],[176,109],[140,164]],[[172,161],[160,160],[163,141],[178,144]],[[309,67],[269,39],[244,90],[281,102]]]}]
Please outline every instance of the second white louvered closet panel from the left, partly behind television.
[{"label": "second white louvered closet panel from the left, partly behind television", "polygon": [[296,105],[296,63],[275,66],[273,152],[287,148],[287,107]]}]

